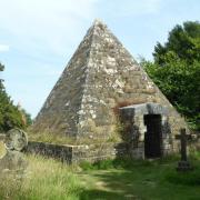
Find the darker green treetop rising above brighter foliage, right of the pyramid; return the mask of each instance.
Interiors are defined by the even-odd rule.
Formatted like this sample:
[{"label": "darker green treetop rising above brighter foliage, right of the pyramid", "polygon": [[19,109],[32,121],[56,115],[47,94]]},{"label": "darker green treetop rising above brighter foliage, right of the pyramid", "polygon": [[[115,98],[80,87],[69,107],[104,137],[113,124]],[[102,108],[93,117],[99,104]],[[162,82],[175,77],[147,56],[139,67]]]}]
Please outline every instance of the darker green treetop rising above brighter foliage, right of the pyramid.
[{"label": "darker green treetop rising above brighter foliage, right of the pyramid", "polygon": [[169,32],[168,41],[163,46],[158,42],[154,47],[154,61],[164,64],[169,52],[188,63],[200,60],[200,23],[187,21],[183,26],[177,24]]}]

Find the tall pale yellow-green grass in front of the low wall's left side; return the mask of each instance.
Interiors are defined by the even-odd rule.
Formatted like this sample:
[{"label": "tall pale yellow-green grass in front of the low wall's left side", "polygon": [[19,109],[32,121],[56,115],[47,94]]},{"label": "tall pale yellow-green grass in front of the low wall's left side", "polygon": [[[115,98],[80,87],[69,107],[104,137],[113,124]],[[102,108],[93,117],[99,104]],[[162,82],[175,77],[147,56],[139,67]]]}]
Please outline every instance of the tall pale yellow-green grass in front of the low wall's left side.
[{"label": "tall pale yellow-green grass in front of the low wall's left side", "polygon": [[7,176],[7,179],[0,177],[0,199],[78,199],[82,186],[73,174],[74,167],[38,156],[28,156],[28,160],[29,167],[22,180],[16,174]]}]

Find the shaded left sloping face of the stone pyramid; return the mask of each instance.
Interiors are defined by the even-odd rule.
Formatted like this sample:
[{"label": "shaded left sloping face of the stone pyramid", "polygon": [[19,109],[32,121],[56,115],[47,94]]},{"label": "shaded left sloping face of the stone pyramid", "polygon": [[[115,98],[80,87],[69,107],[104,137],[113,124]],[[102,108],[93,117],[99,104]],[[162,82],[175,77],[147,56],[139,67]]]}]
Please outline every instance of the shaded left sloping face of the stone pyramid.
[{"label": "shaded left sloping face of the stone pyramid", "polygon": [[37,116],[34,132],[77,134],[91,37],[89,29]]}]

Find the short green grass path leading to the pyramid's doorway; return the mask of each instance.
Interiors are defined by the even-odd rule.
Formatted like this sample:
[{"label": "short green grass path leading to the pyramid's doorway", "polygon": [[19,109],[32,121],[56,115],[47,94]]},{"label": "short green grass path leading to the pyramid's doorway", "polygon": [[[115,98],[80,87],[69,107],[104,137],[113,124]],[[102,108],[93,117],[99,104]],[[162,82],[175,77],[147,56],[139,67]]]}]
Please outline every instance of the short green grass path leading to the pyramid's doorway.
[{"label": "short green grass path leading to the pyramid's doorway", "polygon": [[176,164],[138,166],[131,169],[91,170],[78,174],[86,187],[80,199],[199,200],[200,186],[166,181]]}]

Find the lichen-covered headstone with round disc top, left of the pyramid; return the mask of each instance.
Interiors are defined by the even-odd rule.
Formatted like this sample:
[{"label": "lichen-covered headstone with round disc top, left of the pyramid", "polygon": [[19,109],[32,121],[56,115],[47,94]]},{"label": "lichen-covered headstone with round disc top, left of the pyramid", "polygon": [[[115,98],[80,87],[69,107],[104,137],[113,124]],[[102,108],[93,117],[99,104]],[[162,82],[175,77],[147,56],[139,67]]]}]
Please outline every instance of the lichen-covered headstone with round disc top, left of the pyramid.
[{"label": "lichen-covered headstone with round disc top, left of the pyramid", "polygon": [[23,173],[27,161],[21,150],[28,144],[27,134],[20,129],[11,129],[4,137],[6,154],[0,159],[0,173]]}]

